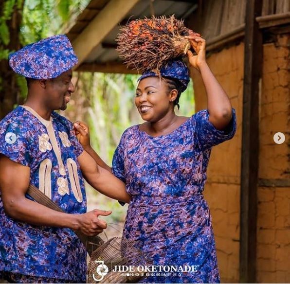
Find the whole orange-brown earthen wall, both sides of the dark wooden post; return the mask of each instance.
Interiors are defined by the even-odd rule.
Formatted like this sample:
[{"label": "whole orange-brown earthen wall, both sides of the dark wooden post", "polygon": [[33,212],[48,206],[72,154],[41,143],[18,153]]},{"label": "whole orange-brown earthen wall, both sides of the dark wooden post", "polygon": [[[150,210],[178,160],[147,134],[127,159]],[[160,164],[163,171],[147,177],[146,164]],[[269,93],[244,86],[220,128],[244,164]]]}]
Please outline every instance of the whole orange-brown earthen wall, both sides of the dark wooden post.
[{"label": "whole orange-brown earthen wall, both sides of the dark wooden post", "polygon": [[[259,178],[290,178],[289,36],[264,44],[260,86]],[[239,279],[240,161],[244,44],[213,53],[207,62],[229,95],[237,115],[236,136],[213,148],[204,195],[212,213],[222,282]],[[196,111],[206,107],[200,75],[191,70]],[[275,144],[273,135],[288,137]],[[257,192],[257,282],[290,283],[290,188],[259,187]]]}]

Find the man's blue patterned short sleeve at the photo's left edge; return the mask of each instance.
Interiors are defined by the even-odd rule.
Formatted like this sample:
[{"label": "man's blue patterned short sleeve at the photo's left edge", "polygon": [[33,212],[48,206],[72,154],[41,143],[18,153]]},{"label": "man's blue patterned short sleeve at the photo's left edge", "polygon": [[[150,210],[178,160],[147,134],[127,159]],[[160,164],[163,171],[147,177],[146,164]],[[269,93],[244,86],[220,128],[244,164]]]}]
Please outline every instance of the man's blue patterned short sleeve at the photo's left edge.
[{"label": "man's blue patterned short sleeve at the photo's left edge", "polygon": [[[6,127],[5,127],[6,126]],[[0,125],[0,154],[23,166],[31,167],[33,141],[21,122]]]}]

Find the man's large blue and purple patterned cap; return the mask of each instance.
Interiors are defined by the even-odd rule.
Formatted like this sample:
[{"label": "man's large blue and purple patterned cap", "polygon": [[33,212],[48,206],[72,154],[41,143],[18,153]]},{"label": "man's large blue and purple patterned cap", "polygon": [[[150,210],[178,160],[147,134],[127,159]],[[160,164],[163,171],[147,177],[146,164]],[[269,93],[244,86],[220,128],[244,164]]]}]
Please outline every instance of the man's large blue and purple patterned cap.
[{"label": "man's large blue and purple patterned cap", "polygon": [[9,55],[13,71],[38,80],[55,78],[76,64],[77,56],[66,35],[44,38]]}]

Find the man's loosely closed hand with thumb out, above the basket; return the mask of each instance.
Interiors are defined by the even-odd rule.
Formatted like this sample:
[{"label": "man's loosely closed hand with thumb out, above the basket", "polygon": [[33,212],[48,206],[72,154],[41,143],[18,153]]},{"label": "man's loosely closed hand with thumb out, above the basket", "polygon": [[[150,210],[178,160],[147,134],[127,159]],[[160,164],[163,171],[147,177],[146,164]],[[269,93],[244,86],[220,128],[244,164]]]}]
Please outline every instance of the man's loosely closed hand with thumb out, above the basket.
[{"label": "man's loosely closed hand with thumb out, above the basket", "polygon": [[87,236],[95,236],[107,228],[107,223],[98,218],[99,215],[108,216],[111,211],[92,210],[85,214],[79,215],[78,230]]}]

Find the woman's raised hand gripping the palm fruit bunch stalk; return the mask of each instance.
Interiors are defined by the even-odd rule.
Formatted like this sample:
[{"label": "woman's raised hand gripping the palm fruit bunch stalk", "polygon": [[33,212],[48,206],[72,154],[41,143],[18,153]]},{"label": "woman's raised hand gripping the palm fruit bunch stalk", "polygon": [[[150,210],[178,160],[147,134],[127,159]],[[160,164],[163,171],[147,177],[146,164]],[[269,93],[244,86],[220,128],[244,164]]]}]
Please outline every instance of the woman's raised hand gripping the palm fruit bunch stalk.
[{"label": "woman's raised hand gripping the palm fruit bunch stalk", "polygon": [[197,55],[193,55],[192,51],[187,52],[189,63],[200,71],[200,67],[206,64],[205,61],[205,39],[200,36],[185,36],[188,38],[193,50],[197,53]]}]

